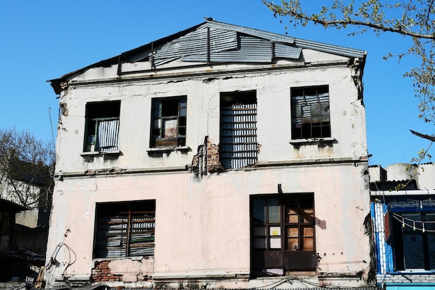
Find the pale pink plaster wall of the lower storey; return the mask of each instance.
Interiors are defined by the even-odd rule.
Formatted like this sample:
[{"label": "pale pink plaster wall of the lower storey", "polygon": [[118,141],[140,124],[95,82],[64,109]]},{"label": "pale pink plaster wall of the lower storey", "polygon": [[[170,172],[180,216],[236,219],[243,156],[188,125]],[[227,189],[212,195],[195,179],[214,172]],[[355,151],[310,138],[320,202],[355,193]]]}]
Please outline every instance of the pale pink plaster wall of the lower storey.
[{"label": "pale pink plaster wall of the lower storey", "polygon": [[[233,171],[202,182],[193,182],[187,172],[65,178],[56,183],[47,255],[65,243],[76,255],[66,275],[90,275],[95,204],[156,200],[154,275],[247,274],[249,196],[277,193],[282,184],[284,193],[314,193],[320,271],[365,271],[370,261],[363,228],[370,211],[366,169],[348,164]],[[60,248],[47,277],[63,273],[70,253]]]}]

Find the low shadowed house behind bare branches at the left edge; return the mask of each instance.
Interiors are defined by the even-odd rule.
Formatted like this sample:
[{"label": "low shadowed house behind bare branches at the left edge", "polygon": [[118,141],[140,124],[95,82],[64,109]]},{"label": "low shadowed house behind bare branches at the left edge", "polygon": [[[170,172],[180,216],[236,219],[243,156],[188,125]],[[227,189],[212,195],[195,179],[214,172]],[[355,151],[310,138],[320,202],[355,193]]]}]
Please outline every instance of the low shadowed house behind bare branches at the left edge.
[{"label": "low shadowed house behind bare branches at the left edge", "polygon": [[45,263],[52,178],[42,163],[0,162],[0,282],[25,281]]}]

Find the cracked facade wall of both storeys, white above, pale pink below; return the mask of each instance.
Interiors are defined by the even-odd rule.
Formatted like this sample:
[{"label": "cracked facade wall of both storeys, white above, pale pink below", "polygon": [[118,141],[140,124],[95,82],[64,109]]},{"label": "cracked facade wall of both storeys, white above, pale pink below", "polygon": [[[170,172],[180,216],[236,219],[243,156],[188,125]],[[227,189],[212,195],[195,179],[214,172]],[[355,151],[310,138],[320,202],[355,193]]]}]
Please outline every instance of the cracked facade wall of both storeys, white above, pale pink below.
[{"label": "cracked facade wall of both storeys, white above, pale pink below", "polygon": [[[306,63],[325,58],[305,52]],[[116,76],[113,66],[69,81],[60,95],[47,282],[263,287],[268,282],[249,279],[249,198],[277,194],[281,184],[283,193],[314,195],[318,264],[305,273],[309,279],[322,285],[367,284],[365,108],[354,68],[343,64],[343,57],[328,55],[329,62],[334,60],[339,64],[301,67],[280,61],[279,70],[216,65],[196,68],[195,76],[184,76],[194,71],[188,68],[136,79]],[[294,143],[290,88],[318,85],[329,86],[333,140]],[[256,91],[258,164],[223,170],[220,92],[245,90]],[[187,96],[186,147],[153,150],[152,99],[177,96]],[[121,100],[120,152],[84,153],[86,103],[115,100]],[[135,200],[156,200],[154,257],[93,259],[96,204]]]}]

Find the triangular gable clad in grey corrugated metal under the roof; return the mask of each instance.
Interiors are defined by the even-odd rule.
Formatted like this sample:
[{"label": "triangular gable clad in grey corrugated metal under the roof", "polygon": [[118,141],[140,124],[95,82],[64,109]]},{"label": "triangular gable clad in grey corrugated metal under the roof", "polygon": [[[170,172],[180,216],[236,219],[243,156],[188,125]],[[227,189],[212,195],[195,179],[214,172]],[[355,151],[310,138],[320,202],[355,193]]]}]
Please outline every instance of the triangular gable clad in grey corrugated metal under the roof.
[{"label": "triangular gable clad in grey corrugated metal under the roof", "polygon": [[297,60],[302,49],[361,58],[362,61],[366,58],[366,51],[359,49],[327,45],[207,19],[190,29],[64,74],[60,79],[51,79],[49,82],[59,94],[63,81],[94,67],[149,61],[152,69],[158,69],[159,66],[176,60],[186,63],[272,63],[274,58]]}]

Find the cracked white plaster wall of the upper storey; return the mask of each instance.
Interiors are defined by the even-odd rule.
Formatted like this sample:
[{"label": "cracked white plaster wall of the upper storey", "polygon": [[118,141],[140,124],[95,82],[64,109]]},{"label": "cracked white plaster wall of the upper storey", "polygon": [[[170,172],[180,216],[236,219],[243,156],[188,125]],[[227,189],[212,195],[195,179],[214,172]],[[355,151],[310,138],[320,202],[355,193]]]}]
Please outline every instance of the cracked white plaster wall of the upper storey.
[{"label": "cracked white plaster wall of the upper storey", "polygon": [[[102,70],[102,69],[100,69]],[[108,69],[110,70],[110,69]],[[58,129],[56,172],[98,168],[148,168],[185,166],[192,162],[197,146],[210,136],[219,143],[220,92],[256,90],[258,102],[258,161],[289,161],[331,157],[366,156],[365,108],[357,99],[357,90],[346,66],[309,67],[255,72],[231,76],[201,76],[179,81],[165,79],[135,83],[104,83],[73,86],[60,98],[67,104]],[[104,77],[104,71],[101,72]],[[204,81],[213,77],[213,79]],[[290,88],[329,85],[332,146],[290,144]],[[188,99],[186,145],[190,152],[172,152],[152,158],[147,154],[151,127],[151,99],[186,95]],[[84,159],[83,136],[86,102],[121,100],[120,151],[117,159]],[[62,154],[68,152],[68,154]]]}]

